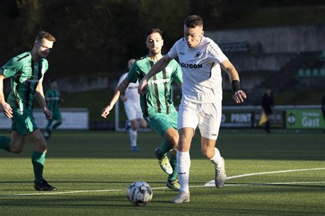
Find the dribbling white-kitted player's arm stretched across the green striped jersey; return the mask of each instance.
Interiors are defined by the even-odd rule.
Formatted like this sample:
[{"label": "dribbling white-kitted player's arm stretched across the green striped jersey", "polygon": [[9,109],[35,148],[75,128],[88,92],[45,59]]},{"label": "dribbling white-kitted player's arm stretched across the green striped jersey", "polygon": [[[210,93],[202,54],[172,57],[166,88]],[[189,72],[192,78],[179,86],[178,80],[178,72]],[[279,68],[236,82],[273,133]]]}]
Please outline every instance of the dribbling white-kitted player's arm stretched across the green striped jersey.
[{"label": "dribbling white-kitted player's arm stretched across the green striped jersey", "polygon": [[139,83],[139,87],[138,87],[139,94],[145,94],[145,90],[148,85],[148,80],[154,75],[156,75],[160,70],[166,68],[166,66],[169,64],[170,61],[171,61],[171,57],[165,55],[158,62],[156,62],[156,64],[154,64],[154,66],[149,70],[147,75],[145,75],[145,77],[143,77],[143,79]]}]

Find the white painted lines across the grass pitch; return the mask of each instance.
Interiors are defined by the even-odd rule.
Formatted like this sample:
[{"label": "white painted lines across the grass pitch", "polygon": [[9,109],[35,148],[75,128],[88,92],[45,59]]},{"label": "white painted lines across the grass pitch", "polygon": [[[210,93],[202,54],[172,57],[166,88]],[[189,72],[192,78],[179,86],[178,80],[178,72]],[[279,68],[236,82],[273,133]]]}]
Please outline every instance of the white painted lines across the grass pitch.
[{"label": "white painted lines across the grass pitch", "polygon": [[[258,172],[252,174],[242,174],[238,176],[229,176],[227,179],[232,178],[241,178],[245,176],[255,176],[263,174],[273,174],[281,172],[300,172],[300,171],[309,171],[309,170],[325,170],[325,168],[314,168],[314,169],[301,169],[301,170],[280,170],[274,172]],[[247,183],[247,184],[226,184],[224,186],[248,186],[248,185],[296,185],[296,184],[322,184],[325,181],[320,182],[293,182],[293,183]],[[215,187],[215,180],[211,180],[205,185],[195,185],[190,187]],[[166,189],[167,187],[154,187],[153,190]],[[0,195],[0,198],[10,198],[18,196],[32,196],[32,195],[56,195],[56,194],[67,194],[67,193],[94,193],[94,192],[112,192],[112,191],[126,191],[127,189],[106,189],[106,190],[84,190],[84,191],[62,191],[62,192],[39,192],[39,193],[22,193],[22,194],[10,194],[10,195]]]}]

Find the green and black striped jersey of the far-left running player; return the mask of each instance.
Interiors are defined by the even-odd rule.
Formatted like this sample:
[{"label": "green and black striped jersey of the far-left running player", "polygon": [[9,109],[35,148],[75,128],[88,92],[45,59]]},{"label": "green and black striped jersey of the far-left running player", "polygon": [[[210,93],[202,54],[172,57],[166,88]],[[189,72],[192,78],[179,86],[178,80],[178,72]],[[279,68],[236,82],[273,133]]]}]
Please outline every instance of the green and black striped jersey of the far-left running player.
[{"label": "green and black striped jersey of the far-left running player", "polygon": [[12,109],[33,109],[36,87],[48,67],[47,59],[34,62],[31,53],[25,52],[13,57],[1,68],[3,76],[11,79],[12,92],[8,103]]}]

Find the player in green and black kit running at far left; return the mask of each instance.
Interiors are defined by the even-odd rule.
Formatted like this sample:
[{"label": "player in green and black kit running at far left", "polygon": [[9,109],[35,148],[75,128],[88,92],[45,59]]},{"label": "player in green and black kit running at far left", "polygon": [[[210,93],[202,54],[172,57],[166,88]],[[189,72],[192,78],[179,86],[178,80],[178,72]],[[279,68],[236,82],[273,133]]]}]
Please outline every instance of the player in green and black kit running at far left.
[{"label": "player in green and black kit running at far left", "polygon": [[[25,143],[33,144],[32,164],[34,168],[34,187],[38,191],[55,191],[43,178],[43,167],[47,143],[43,134],[36,126],[33,118],[33,101],[38,100],[45,117],[51,119],[51,111],[47,109],[43,92],[43,78],[47,68],[49,55],[56,38],[51,34],[40,31],[34,41],[32,51],[27,51],[10,59],[0,68],[0,109],[12,119],[11,139],[0,136],[0,149],[19,154]],[[3,79],[11,79],[12,92],[8,103],[3,96]]]}]

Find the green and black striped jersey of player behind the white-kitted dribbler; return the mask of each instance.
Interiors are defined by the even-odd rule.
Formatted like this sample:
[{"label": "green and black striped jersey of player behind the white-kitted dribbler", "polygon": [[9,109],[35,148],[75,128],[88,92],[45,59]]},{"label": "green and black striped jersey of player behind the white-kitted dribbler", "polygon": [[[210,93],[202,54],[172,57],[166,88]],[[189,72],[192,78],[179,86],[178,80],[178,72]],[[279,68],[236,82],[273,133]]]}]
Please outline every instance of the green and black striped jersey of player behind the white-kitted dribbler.
[{"label": "green and black striped jersey of player behind the white-kitted dribbler", "polygon": [[[134,62],[126,77],[130,83],[141,81],[156,62],[149,60],[145,56]],[[182,83],[182,69],[180,65],[172,59],[168,66],[150,78],[147,85],[147,92],[140,96],[143,117],[146,118],[152,113],[167,113],[175,109],[171,101],[171,83]]]}]

